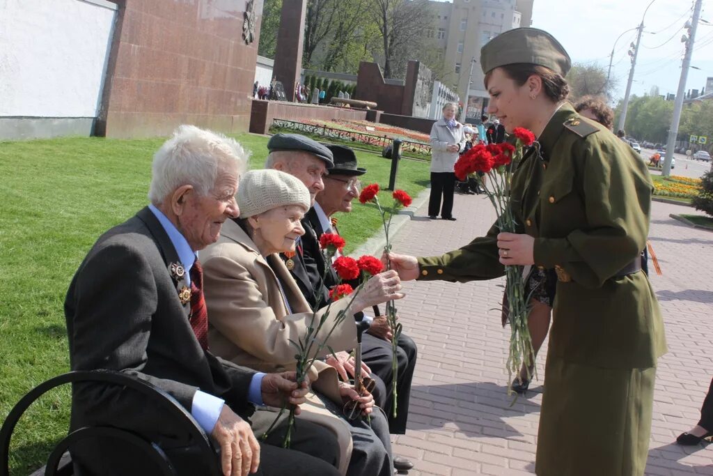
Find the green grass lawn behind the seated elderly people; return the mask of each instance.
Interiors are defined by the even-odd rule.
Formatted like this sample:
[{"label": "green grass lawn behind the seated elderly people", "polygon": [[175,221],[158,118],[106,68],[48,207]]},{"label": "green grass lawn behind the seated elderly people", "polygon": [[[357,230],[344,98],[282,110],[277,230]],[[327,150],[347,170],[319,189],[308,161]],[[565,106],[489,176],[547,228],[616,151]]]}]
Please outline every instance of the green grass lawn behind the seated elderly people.
[{"label": "green grass lawn behind the seated elderly people", "polygon": [[[262,167],[267,138],[236,136]],[[0,142],[0,420],[28,390],[69,370],[63,300],[79,263],[98,236],[145,206],[153,152],[163,139],[59,138]],[[357,153],[366,183],[388,185],[390,162]],[[401,161],[398,188],[416,196],[429,164]],[[384,203],[391,203],[386,193]],[[380,226],[373,206],[356,202],[339,217],[347,252]],[[14,433],[11,468],[26,474],[66,434],[69,389],[46,395]]]}]

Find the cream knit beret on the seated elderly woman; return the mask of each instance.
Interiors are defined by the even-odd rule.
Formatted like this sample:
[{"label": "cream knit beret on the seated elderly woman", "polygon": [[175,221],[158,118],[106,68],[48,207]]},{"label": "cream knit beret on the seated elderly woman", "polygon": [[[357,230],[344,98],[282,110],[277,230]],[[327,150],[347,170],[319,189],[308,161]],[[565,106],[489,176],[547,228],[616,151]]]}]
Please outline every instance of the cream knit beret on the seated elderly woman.
[{"label": "cream knit beret on the seated elderly woman", "polygon": [[270,168],[245,173],[240,178],[236,198],[240,218],[286,205],[302,206],[306,212],[312,204],[309,190],[299,178]]}]

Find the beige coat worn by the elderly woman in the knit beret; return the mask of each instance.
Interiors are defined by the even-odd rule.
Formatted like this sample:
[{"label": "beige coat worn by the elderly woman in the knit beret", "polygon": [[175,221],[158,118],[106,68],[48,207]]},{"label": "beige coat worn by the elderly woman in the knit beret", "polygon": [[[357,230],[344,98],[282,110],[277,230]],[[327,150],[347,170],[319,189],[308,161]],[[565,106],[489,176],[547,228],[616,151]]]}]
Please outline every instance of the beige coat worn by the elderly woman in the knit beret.
[{"label": "beige coat worn by the elderly woman in the knit beret", "polygon": [[[282,260],[277,255],[267,256],[267,260],[263,258],[247,233],[237,223],[228,220],[223,224],[217,242],[200,252],[200,261],[204,270],[205,302],[210,323],[208,340],[212,352],[262,372],[294,370],[296,349],[289,341],[297,342],[304,336],[314,316]],[[268,261],[277,270],[277,275],[267,264]],[[292,314],[288,314],[277,276]],[[335,352],[356,347],[354,313],[347,309],[346,299],[332,305],[329,319],[317,335],[318,342],[326,337],[341,310],[347,311],[347,318],[327,340]],[[317,321],[324,311],[317,312]],[[325,346],[318,356],[328,354],[329,349]],[[309,377],[314,390],[341,405],[339,378],[334,368],[317,360]],[[339,467],[342,474],[346,474],[352,451],[347,422],[334,417],[314,395],[310,395],[307,404],[302,405],[300,416],[334,432],[342,449]]]}]

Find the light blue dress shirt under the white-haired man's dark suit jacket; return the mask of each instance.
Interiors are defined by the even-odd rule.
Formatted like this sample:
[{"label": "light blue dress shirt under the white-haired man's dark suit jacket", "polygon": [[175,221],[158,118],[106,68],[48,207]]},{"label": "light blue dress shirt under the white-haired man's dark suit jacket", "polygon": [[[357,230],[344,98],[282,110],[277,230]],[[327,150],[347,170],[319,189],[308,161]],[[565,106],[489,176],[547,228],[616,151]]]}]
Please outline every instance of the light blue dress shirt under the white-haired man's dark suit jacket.
[{"label": "light blue dress shirt under the white-haired man's dark suit jacket", "polygon": [[[149,205],[148,208],[158,218],[159,223],[161,223],[168,238],[171,240],[173,248],[178,253],[178,259],[180,259],[185,269],[186,284],[190,286],[190,268],[193,268],[193,263],[195,263],[195,253],[190,248],[185,236],[178,231],[178,228],[158,208],[153,205]],[[247,400],[250,400],[255,405],[262,405],[262,390],[260,389],[263,377],[265,377],[265,373],[262,372],[253,375],[250,381],[250,388],[247,391]],[[225,405],[225,400],[222,400],[222,398],[197,390],[193,395],[190,414],[193,415],[198,425],[206,433],[210,434],[218,421],[223,405]]]}]

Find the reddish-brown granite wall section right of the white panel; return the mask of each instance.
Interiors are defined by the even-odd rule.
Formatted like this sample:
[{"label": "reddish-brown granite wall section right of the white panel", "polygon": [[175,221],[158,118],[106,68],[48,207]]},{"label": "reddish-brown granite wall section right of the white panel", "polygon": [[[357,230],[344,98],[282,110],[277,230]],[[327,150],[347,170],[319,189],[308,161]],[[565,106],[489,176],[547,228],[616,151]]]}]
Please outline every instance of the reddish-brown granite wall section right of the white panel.
[{"label": "reddish-brown granite wall section right of the white panel", "polygon": [[181,123],[247,131],[255,41],[243,39],[250,0],[116,0],[118,19],[96,135],[164,136]]}]

